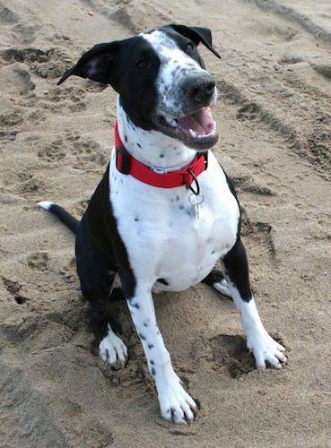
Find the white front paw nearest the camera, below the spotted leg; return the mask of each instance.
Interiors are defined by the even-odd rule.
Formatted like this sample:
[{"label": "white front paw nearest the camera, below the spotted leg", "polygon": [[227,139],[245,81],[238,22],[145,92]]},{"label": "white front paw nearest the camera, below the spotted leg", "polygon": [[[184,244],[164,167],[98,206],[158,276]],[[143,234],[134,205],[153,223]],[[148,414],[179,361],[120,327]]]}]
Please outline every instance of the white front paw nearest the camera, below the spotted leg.
[{"label": "white front paw nearest the camera, below the spotted leg", "polygon": [[191,423],[197,412],[196,402],[188,395],[174,374],[171,380],[158,384],[161,417],[173,423]]}]

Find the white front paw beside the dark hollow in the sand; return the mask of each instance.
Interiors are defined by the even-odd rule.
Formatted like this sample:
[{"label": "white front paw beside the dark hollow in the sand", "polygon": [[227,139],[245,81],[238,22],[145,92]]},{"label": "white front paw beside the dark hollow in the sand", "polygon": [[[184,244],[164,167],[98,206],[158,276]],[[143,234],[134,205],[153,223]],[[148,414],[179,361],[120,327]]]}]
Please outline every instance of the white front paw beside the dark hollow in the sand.
[{"label": "white front paw beside the dark hollow in the sand", "polygon": [[281,369],[282,363],[286,364],[287,358],[283,355],[286,349],[274,340],[266,330],[259,332],[254,337],[248,337],[248,349],[251,350],[256,359],[257,368],[266,369],[266,363],[274,368]]}]

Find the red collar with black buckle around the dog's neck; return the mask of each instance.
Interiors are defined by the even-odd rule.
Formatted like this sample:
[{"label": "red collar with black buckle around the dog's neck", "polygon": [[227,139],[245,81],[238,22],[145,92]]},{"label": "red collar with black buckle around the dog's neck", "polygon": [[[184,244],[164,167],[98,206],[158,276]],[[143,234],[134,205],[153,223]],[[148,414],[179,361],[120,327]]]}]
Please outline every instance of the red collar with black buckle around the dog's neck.
[{"label": "red collar with black buckle around the dog's neck", "polygon": [[135,177],[144,184],[161,188],[191,185],[208,166],[208,152],[197,152],[196,158],[186,168],[170,173],[159,173],[135,159],[126,151],[118,134],[118,122],[115,123],[116,167],[118,171]]}]

